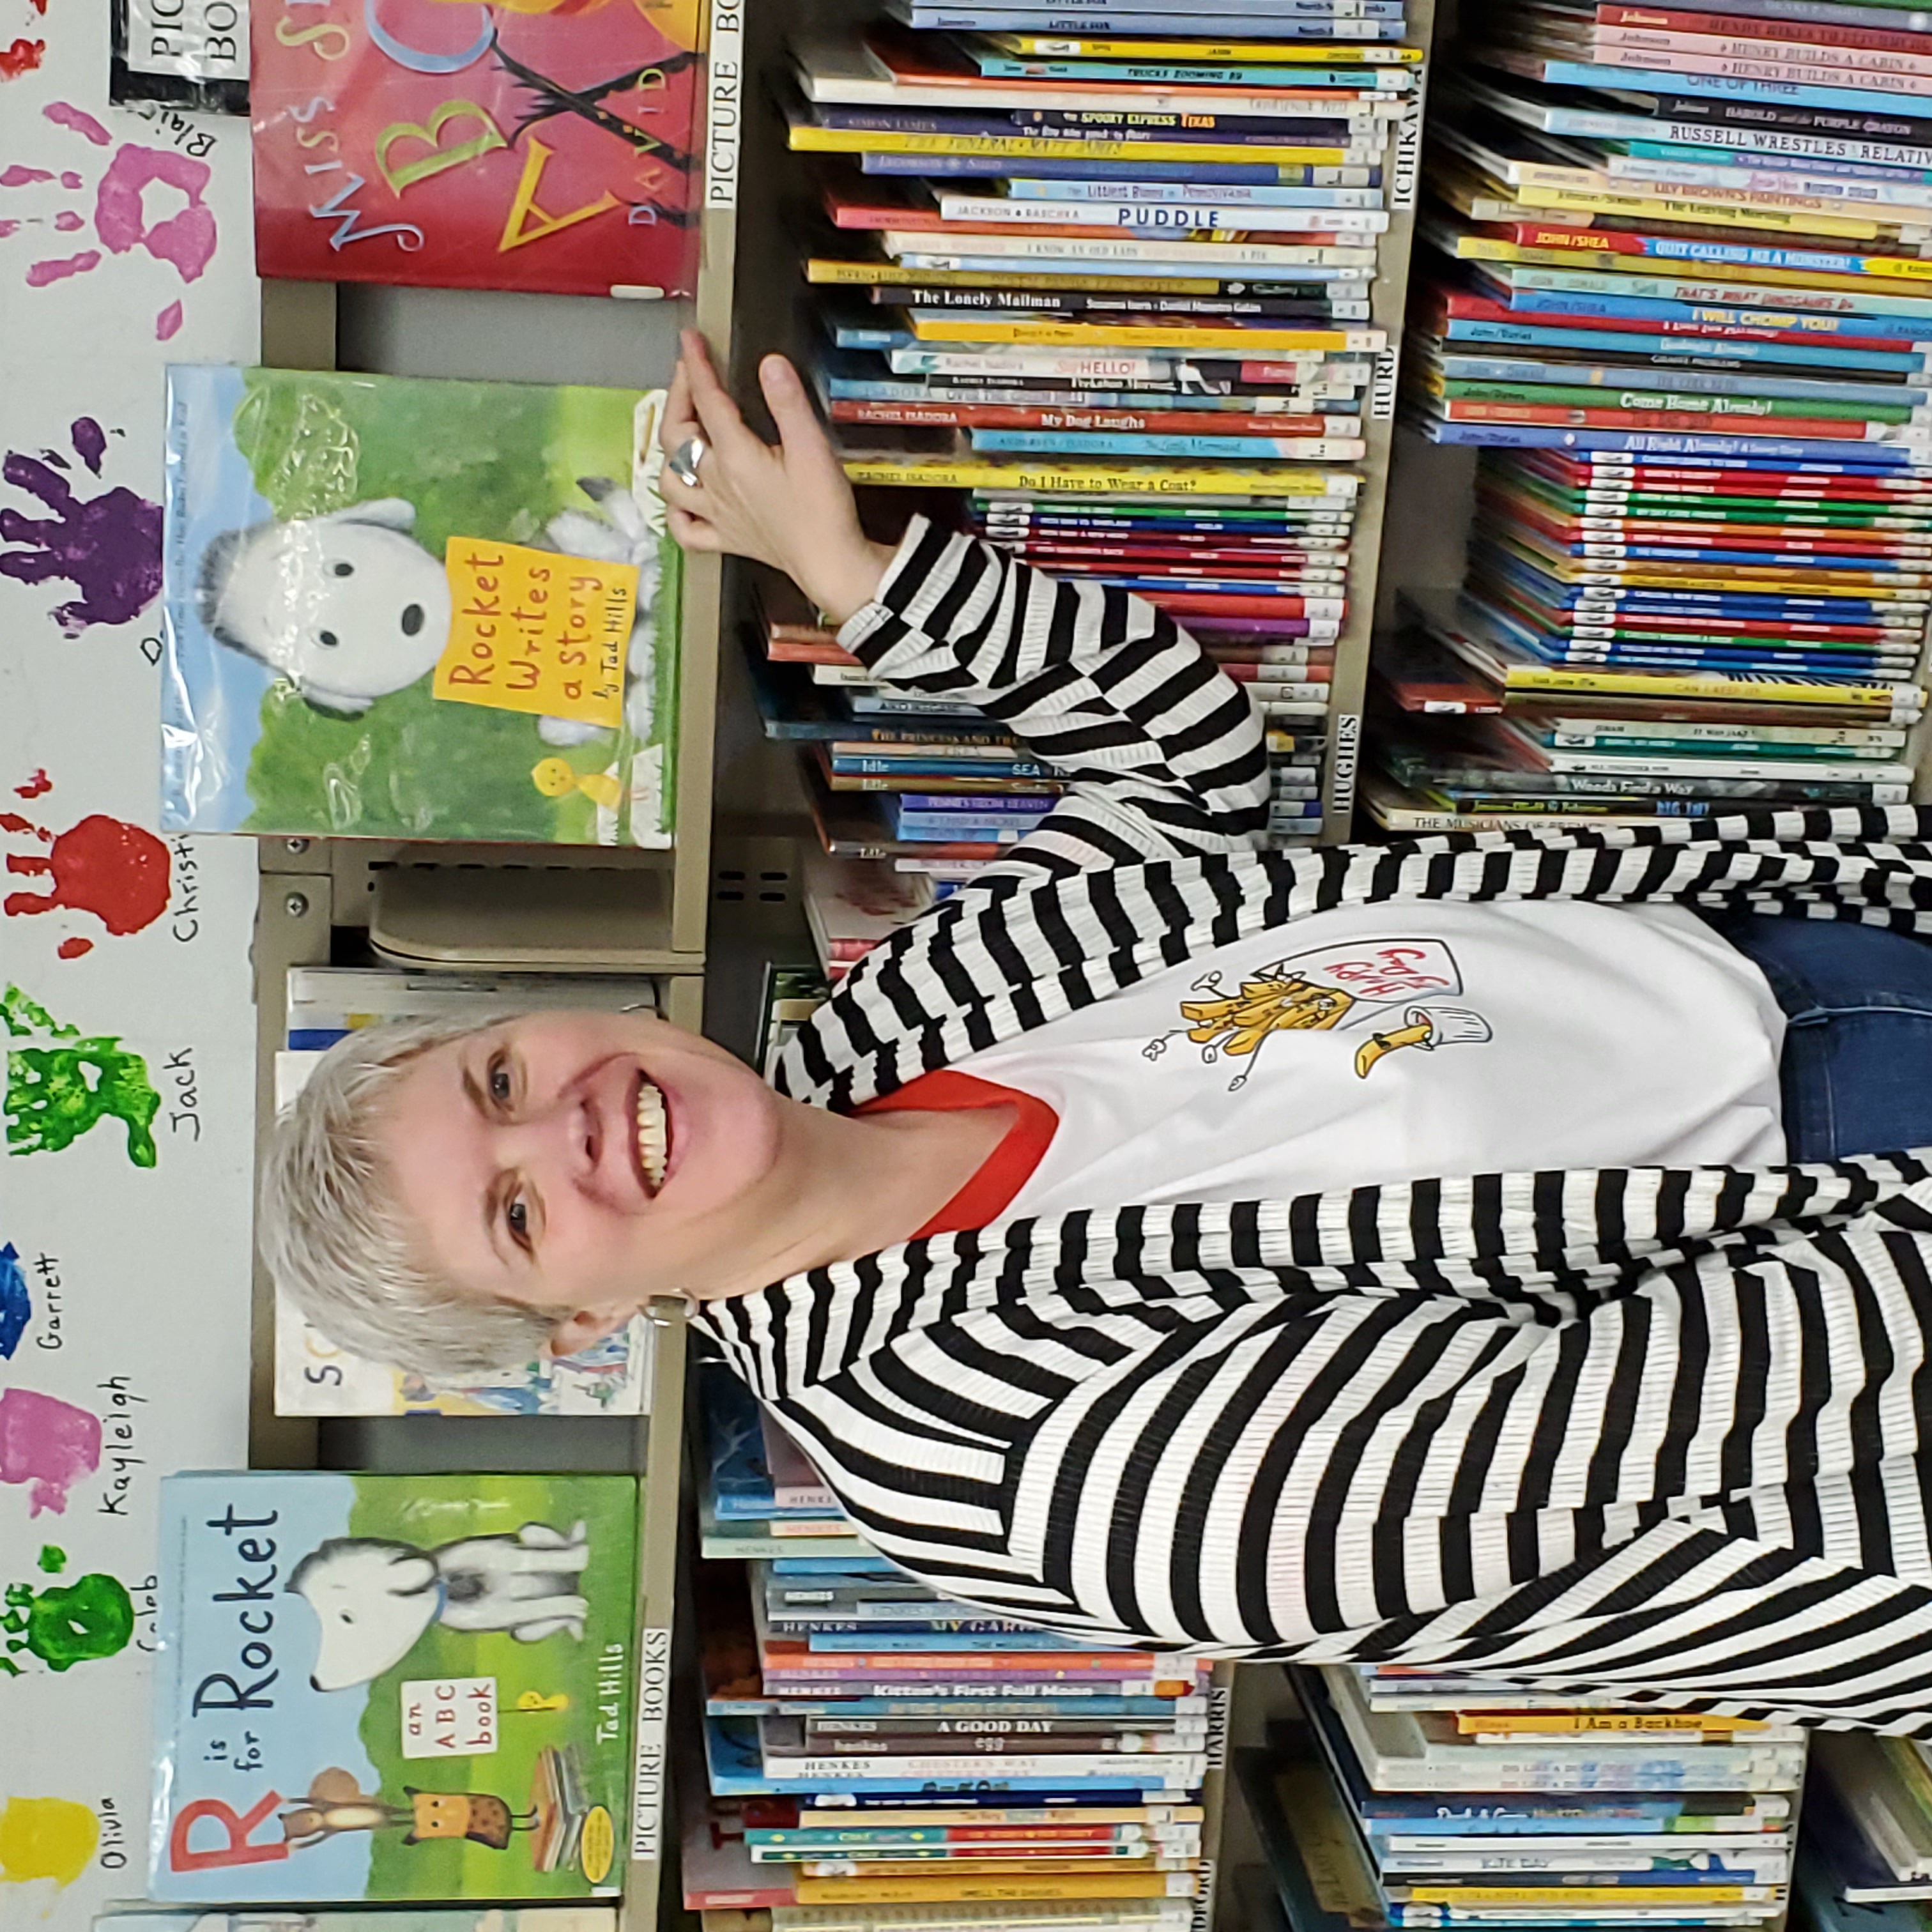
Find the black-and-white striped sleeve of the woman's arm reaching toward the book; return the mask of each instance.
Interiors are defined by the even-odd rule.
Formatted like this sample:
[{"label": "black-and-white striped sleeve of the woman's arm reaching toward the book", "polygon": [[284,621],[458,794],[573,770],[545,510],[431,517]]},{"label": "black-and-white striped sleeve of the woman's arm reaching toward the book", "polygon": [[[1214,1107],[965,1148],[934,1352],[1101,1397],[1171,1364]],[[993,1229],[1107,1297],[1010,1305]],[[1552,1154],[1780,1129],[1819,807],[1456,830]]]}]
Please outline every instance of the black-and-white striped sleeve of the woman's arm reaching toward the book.
[{"label": "black-and-white striped sleeve of the woman's arm reaching toward the book", "polygon": [[1267,753],[1246,694],[1126,591],[1049,578],[914,518],[838,641],[883,682],[980,707],[1065,777],[1016,869],[1260,844]]}]

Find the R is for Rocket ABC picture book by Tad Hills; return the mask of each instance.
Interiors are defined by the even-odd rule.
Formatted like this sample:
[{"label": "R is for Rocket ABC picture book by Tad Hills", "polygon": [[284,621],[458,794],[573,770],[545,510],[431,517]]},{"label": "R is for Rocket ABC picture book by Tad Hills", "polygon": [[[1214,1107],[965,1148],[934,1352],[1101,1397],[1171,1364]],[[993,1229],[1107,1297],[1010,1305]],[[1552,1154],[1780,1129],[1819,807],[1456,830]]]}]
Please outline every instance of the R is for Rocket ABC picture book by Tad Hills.
[{"label": "R is for Rocket ABC picture book by Tad Hills", "polygon": [[149,1889],[614,1893],[630,1816],[628,1476],[170,1476]]}]

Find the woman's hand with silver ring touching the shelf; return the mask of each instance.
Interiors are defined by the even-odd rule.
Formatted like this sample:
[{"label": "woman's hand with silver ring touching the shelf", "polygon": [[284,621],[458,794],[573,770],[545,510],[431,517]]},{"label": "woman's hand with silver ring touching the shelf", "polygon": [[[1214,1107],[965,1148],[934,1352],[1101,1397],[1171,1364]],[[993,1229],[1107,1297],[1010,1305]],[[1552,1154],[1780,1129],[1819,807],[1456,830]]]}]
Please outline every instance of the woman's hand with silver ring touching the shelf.
[{"label": "woman's hand with silver ring touching the shelf", "polygon": [[893,560],[858,526],[852,485],[782,355],[757,367],[779,446],[763,442],[724,394],[703,336],[684,332],[684,354],[665,404],[659,440],[668,456],[692,437],[705,442],[697,483],[665,469],[659,489],[670,535],[686,551],[724,551],[782,570],[835,624],[871,603]]}]

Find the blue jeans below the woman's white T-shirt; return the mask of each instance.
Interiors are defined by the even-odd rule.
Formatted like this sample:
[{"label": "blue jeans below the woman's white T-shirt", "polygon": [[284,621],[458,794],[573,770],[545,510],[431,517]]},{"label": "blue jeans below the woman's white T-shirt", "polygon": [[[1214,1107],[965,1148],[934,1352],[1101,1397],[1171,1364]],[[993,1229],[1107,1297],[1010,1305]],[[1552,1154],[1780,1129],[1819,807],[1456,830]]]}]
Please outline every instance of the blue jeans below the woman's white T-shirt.
[{"label": "blue jeans below the woman's white T-shirt", "polygon": [[1706,918],[1785,1010],[1791,1159],[1932,1148],[1932,945],[1847,920]]}]

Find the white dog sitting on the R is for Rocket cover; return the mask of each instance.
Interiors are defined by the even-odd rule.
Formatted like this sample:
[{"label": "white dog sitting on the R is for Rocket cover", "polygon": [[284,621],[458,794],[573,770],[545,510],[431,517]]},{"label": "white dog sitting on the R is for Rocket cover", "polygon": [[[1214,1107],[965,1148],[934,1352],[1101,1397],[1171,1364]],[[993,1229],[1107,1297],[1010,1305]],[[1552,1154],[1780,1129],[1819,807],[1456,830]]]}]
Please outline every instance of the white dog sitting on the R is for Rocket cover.
[{"label": "white dog sitting on the R is for Rocket cover", "polygon": [[400,1663],[431,1623],[508,1631],[518,1642],[583,1636],[582,1590],[591,1549],[583,1524],[566,1536],[526,1522],[516,1536],[468,1536],[437,1549],[375,1536],[332,1536],[290,1573],[323,1627],[317,1690],[348,1690]]}]

